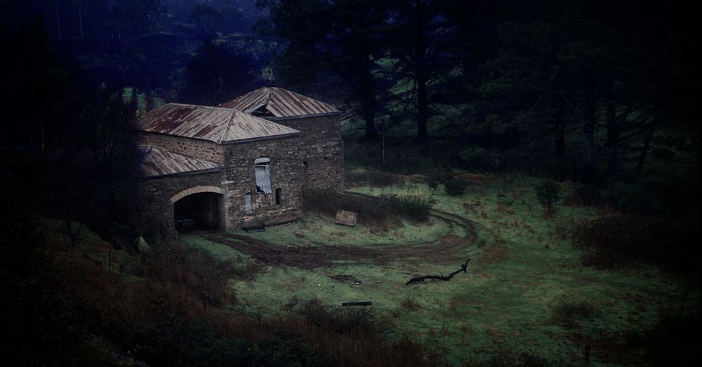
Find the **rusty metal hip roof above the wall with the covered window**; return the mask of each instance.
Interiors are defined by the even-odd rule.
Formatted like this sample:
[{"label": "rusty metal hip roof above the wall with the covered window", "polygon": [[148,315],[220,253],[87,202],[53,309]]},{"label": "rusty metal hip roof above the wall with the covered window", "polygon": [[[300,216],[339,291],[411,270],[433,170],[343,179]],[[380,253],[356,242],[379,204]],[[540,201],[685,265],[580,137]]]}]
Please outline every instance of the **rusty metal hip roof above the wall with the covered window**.
[{"label": "rusty metal hip roof above the wall with the covered window", "polygon": [[235,109],[169,103],[144,113],[137,130],[204,139],[216,143],[241,142],[300,134],[291,127]]}]

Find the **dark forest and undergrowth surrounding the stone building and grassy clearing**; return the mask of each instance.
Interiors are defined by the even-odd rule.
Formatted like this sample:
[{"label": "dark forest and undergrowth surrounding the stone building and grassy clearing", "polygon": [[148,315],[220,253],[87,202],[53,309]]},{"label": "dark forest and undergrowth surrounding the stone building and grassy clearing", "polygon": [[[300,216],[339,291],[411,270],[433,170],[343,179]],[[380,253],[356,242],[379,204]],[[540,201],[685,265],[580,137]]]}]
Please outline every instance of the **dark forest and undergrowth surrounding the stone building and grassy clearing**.
[{"label": "dark forest and undergrowth surrounding the stone building and grassy clearing", "polygon": [[[129,343],[148,345],[140,338],[161,338],[161,328],[167,340],[138,359],[335,364],[295,334],[307,335],[307,324],[287,319],[282,330],[264,321],[269,334],[260,331],[256,343],[269,349],[221,341],[227,331],[211,325],[219,321],[188,321],[176,331],[192,310],[157,296],[149,301],[159,311],[150,315],[178,316],[115,321],[105,314],[111,306],[67,296],[65,284],[91,275],[56,270],[37,229],[38,218],[51,218],[73,245],[85,225],[115,249],[135,248],[147,219],[138,215],[145,198],[133,185],[140,156],[129,123],[168,102],[214,106],[263,86],[343,110],[347,181],[421,175],[431,186],[455,181],[455,172],[519,172],[573,183],[570,202],[621,214],[592,228],[630,235],[600,256],[653,263],[698,284],[697,18],[685,1],[0,0],[0,363],[81,364],[91,358],[79,347],[85,340],[110,339],[126,351]],[[550,213],[559,198],[548,190],[541,188]],[[665,251],[654,249],[661,243]],[[164,273],[159,261],[192,255],[178,251],[159,253],[135,273],[154,277],[146,291],[171,281],[197,288]],[[211,259],[200,261],[185,271],[225,283]],[[213,305],[224,302],[212,297]],[[358,315],[324,315],[340,317],[326,333],[353,327],[367,336],[381,327],[361,330],[349,326]],[[246,320],[227,337],[261,328],[260,314]],[[142,329],[119,326],[126,322]],[[698,326],[698,313],[690,324]],[[698,331],[681,333],[698,340]],[[288,340],[284,350],[276,349],[280,340]],[[173,345],[183,354],[159,354]],[[366,365],[436,362],[409,339],[388,348],[383,363]],[[355,364],[364,362],[348,362]]]}]

